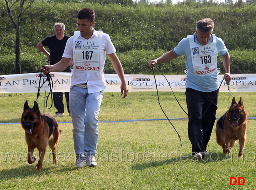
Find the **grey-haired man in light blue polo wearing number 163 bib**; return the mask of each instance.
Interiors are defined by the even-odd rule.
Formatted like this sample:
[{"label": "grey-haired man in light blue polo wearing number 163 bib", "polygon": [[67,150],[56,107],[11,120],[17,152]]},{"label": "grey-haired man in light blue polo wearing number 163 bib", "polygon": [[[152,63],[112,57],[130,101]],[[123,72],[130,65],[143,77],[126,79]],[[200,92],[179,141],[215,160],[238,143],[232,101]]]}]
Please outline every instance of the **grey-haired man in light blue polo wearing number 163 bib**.
[{"label": "grey-haired man in light blue polo wearing number 163 bib", "polygon": [[214,22],[199,20],[194,35],[187,36],[178,45],[148,62],[150,68],[186,55],[186,102],[188,108],[188,138],[192,144],[193,159],[208,155],[207,144],[216,120],[218,103],[217,56],[222,56],[224,79],[229,84],[230,55],[221,38],[212,34]]}]

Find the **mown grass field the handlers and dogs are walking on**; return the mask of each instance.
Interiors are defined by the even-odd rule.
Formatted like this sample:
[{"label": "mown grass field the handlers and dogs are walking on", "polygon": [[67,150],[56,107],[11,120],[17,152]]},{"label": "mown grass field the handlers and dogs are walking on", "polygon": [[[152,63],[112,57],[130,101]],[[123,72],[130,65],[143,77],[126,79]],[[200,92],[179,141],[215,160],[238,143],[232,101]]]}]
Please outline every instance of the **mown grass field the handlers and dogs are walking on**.
[{"label": "mown grass field the handlers and dogs are walking on", "polygon": [[[170,92],[160,92],[160,102],[169,118],[186,118]],[[186,110],[184,92],[175,93]],[[256,117],[255,92],[232,92],[242,96],[248,117]],[[20,123],[26,100],[33,106],[35,93],[0,94],[0,123]],[[229,105],[231,100],[229,102]],[[43,110],[44,99],[38,104]],[[228,92],[220,92],[217,117],[226,112]],[[55,108],[45,112],[54,115]],[[98,166],[74,168],[75,154],[70,116],[58,118],[62,130],[57,148],[59,163],[51,161],[50,148],[42,172],[26,162],[27,146],[20,124],[0,125],[0,189],[255,189],[256,120],[248,120],[243,158],[239,143],[229,155],[215,141],[215,126],[208,150],[210,156],[192,160],[187,119],[171,120],[180,140],[158,105],[156,92],[133,92],[122,99],[118,92],[105,92],[99,115]],[[156,119],[156,120],[147,120]],[[132,122],[103,122],[124,121]],[[142,121],[141,121],[142,120]],[[37,150],[36,150],[37,153]],[[245,183],[230,186],[230,177]],[[242,182],[242,181],[241,181]],[[234,181],[233,181],[234,183]]]}]

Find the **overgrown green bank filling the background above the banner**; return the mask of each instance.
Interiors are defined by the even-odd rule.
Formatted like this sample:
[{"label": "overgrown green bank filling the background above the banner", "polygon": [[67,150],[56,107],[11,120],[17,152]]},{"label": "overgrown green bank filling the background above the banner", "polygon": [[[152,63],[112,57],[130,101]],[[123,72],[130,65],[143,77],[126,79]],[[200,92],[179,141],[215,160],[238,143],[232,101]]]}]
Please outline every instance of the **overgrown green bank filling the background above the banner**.
[{"label": "overgrown green bank filling the background above the banner", "polygon": [[[5,0],[0,0],[1,4]],[[214,2],[184,3],[131,3],[124,4],[90,3],[91,1],[44,1],[35,0],[31,4],[30,11],[22,16],[20,28],[21,48],[21,72],[38,72],[44,64],[45,56],[36,48],[36,44],[54,35],[55,22],[63,22],[66,25],[66,35],[72,36],[77,30],[76,14],[83,7],[93,8],[96,12],[96,30],[103,30],[110,34],[110,38],[117,49],[117,54],[124,66],[126,74],[149,73],[145,66],[148,60],[170,51],[177,43],[187,35],[193,34],[197,20],[212,18],[215,22],[214,33],[222,38],[233,55],[237,52],[246,54],[248,51],[254,54],[256,48],[256,0],[240,4],[217,4]],[[13,1],[14,2],[14,1]],[[17,0],[16,2],[20,2]],[[117,2],[117,1],[113,1]],[[121,1],[120,1],[121,2]],[[26,6],[28,7],[28,6]],[[13,74],[15,65],[14,54],[16,48],[16,30],[10,20],[4,6],[0,6],[2,20],[0,20],[0,74]],[[18,9],[12,12],[14,18],[18,16]],[[233,56],[231,54],[231,56]],[[239,57],[241,64],[247,62]],[[244,55],[244,58],[248,56]],[[236,57],[234,60],[237,61]],[[248,58],[251,63],[255,59]],[[240,62],[236,65],[239,65]],[[184,58],[174,60],[162,66],[166,72],[182,73],[184,70]],[[247,67],[239,67],[246,68]],[[106,60],[106,73],[113,73],[109,60]],[[237,72],[255,72],[254,68],[239,70]]]}]

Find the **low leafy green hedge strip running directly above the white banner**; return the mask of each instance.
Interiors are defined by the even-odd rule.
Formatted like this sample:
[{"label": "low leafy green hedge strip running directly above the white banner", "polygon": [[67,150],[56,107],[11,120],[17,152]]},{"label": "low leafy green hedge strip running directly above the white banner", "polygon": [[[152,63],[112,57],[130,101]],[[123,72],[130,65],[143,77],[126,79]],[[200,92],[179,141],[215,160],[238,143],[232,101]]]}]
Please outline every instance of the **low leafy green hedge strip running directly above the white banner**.
[{"label": "low leafy green hedge strip running directly above the white banner", "polygon": [[[148,67],[148,61],[157,58],[164,54],[164,50],[130,50],[127,52],[117,52],[117,55],[122,63],[125,74],[152,74],[152,70]],[[254,50],[230,50],[231,57],[231,74],[246,74],[256,73],[256,52]],[[8,56],[0,55],[0,70],[1,74],[14,74],[14,59],[15,55]],[[22,53],[21,55],[22,73],[39,72],[39,68],[45,64],[45,57],[42,53],[35,52],[31,48],[31,53]],[[224,74],[222,59],[218,56],[218,67],[221,68],[220,74]],[[164,74],[184,74],[185,57],[176,58],[166,64],[158,65],[158,68]],[[104,72],[114,74],[114,68],[111,65],[109,58],[106,59]],[[157,74],[158,71],[156,71]]]}]

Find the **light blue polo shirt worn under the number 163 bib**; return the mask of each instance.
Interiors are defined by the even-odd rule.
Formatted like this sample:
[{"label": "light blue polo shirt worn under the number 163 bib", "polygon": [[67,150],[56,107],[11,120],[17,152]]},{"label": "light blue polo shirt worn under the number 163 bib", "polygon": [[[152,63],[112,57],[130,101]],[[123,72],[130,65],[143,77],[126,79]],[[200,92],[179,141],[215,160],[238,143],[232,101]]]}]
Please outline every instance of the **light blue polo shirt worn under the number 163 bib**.
[{"label": "light blue polo shirt worn under the number 163 bib", "polygon": [[[213,39],[211,36],[208,43],[211,43],[212,41]],[[196,44],[198,44],[199,46],[202,46],[196,38],[196,33],[194,34],[194,42],[196,42]],[[224,56],[227,54],[228,50],[221,38],[216,37],[216,46],[218,54],[220,54],[220,56]],[[177,56],[186,56],[186,68],[188,69],[188,75],[186,76],[186,88],[192,88],[201,92],[212,92],[218,89],[217,70],[210,75],[200,76],[194,74],[188,38],[183,38],[173,51]]]}]

